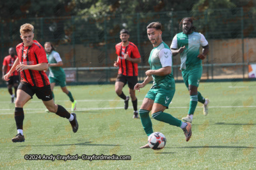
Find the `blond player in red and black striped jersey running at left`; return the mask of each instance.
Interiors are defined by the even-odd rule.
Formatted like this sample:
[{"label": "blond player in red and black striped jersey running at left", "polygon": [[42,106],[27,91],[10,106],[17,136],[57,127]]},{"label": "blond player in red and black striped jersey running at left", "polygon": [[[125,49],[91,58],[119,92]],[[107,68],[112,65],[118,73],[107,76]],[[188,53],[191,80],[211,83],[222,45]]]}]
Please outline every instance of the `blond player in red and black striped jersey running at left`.
[{"label": "blond player in red and black striped jersey running at left", "polygon": [[46,108],[56,113],[56,115],[67,118],[72,126],[73,132],[77,132],[78,123],[75,113],[68,113],[63,106],[55,104],[52,99],[52,92],[49,79],[44,73],[48,68],[48,61],[43,46],[34,38],[34,27],[31,24],[20,26],[20,38],[23,43],[16,46],[17,59],[12,68],[4,75],[4,80],[10,80],[15,69],[20,72],[21,82],[17,90],[17,100],[15,103],[14,118],[17,126],[18,134],[12,138],[13,142],[25,141],[23,135],[23,106],[29,99],[32,99],[34,94],[38,99],[42,99]]}]

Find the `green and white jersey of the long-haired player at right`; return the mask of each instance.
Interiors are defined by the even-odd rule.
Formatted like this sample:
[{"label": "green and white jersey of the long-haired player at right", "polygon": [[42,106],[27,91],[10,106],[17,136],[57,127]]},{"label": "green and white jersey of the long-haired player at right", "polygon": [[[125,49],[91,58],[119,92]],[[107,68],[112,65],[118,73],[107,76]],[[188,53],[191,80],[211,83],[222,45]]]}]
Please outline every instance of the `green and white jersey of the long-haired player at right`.
[{"label": "green and white jersey of the long-haired player at right", "polygon": [[184,52],[180,53],[180,69],[192,69],[193,67],[201,67],[202,60],[199,55],[200,46],[208,45],[204,35],[198,32],[184,34],[180,32],[176,34],[172,40],[171,48],[179,49],[186,46]]}]

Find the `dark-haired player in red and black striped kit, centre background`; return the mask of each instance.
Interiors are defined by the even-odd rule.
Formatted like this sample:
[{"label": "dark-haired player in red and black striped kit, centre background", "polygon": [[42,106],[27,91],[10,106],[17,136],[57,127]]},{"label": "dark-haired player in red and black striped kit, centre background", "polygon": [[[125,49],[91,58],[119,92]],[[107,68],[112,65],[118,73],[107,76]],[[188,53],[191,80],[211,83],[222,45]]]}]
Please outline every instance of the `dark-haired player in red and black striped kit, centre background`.
[{"label": "dark-haired player in red and black striped kit, centre background", "polygon": [[141,62],[141,57],[137,46],[128,41],[129,37],[129,32],[126,29],[120,31],[122,42],[116,45],[117,60],[114,63],[115,67],[119,67],[115,91],[120,98],[124,99],[124,109],[127,110],[130,97],[125,96],[123,87],[128,82],[129,94],[134,110],[133,118],[139,118],[138,100],[135,96],[134,85],[138,83],[138,63]]}]

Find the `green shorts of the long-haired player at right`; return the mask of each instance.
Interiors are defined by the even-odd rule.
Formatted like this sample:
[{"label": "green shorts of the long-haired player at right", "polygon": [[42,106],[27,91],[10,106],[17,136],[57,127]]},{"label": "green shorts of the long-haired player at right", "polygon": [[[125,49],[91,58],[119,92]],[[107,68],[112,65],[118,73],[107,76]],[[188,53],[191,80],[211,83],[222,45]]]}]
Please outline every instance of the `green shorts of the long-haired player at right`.
[{"label": "green shorts of the long-haired player at right", "polygon": [[188,85],[194,85],[196,87],[199,86],[199,82],[202,76],[202,71],[203,71],[202,67],[195,67],[193,69],[182,71],[182,77],[187,88],[188,88]]}]

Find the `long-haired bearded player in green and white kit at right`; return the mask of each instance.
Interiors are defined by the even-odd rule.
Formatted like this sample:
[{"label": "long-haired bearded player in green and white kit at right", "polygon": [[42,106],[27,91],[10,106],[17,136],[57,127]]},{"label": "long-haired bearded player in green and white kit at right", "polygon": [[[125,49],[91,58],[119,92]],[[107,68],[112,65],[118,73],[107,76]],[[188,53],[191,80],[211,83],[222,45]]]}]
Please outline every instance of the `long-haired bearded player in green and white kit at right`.
[{"label": "long-haired bearded player in green and white kit at right", "polygon": [[[171,50],[173,56],[180,53],[180,70],[190,95],[188,116],[182,120],[191,123],[198,101],[204,104],[204,115],[208,114],[210,101],[205,99],[197,89],[202,76],[202,60],[209,53],[209,45],[203,34],[195,32],[193,18],[183,18],[180,21],[181,25],[182,32],[174,36]],[[202,53],[199,52],[200,46],[203,48]]]}]

